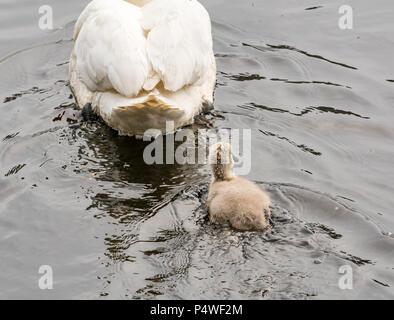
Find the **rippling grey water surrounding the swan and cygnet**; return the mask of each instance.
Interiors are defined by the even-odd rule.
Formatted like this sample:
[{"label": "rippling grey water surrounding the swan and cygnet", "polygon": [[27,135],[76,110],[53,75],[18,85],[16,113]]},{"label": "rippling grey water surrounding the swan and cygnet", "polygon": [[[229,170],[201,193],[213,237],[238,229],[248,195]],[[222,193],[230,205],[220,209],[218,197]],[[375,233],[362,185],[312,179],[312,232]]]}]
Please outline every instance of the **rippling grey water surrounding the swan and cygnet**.
[{"label": "rippling grey water surrounding the swan and cygnet", "polygon": [[394,297],[391,1],[348,1],[353,30],[337,0],[202,1],[216,113],[194,127],[252,129],[266,234],[209,223],[206,165],[148,166],[146,143],[80,121],[67,70],[87,2],[51,1],[52,31],[39,1],[0,4],[0,298]]}]

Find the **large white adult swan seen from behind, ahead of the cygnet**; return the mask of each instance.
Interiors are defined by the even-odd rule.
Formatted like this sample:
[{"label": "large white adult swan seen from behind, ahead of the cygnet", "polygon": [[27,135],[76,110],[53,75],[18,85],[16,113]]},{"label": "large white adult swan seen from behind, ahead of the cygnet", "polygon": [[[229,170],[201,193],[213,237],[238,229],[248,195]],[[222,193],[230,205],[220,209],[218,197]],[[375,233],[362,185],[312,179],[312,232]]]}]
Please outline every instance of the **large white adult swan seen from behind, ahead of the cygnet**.
[{"label": "large white adult swan seen from behind, ahead of the cygnet", "polygon": [[213,103],[211,22],[196,0],[94,0],[76,22],[74,41],[77,102],[90,103],[119,134],[167,133],[166,121],[177,129]]}]

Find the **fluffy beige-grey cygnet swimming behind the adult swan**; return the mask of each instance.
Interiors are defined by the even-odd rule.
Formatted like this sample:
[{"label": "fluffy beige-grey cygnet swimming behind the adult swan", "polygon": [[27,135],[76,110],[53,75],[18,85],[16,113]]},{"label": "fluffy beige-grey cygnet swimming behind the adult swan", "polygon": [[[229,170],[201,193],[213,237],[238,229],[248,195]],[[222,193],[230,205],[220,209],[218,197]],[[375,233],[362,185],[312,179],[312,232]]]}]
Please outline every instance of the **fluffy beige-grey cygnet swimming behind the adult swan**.
[{"label": "fluffy beige-grey cygnet swimming behind the adult swan", "polygon": [[253,182],[233,172],[231,145],[218,142],[209,149],[212,182],[207,209],[211,222],[230,222],[238,230],[264,230],[269,225],[270,198]]}]

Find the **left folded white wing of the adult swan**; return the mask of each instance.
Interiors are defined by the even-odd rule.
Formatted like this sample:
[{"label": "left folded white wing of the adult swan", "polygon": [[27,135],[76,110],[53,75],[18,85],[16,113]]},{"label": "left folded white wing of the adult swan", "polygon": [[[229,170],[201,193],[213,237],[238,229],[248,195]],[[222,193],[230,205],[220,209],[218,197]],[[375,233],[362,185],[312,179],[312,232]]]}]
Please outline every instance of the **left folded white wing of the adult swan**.
[{"label": "left folded white wing of the adult swan", "polygon": [[[149,73],[141,11],[122,0],[96,0],[75,43],[77,70],[92,91],[115,89],[126,97],[141,90]],[[93,8],[93,10],[92,10]]]}]

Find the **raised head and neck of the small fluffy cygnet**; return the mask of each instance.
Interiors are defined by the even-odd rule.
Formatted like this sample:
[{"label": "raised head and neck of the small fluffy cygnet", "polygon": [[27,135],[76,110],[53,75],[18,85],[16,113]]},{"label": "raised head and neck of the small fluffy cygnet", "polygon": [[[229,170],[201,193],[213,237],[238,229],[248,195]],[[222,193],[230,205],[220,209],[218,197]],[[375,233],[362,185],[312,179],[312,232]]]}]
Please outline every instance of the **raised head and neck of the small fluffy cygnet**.
[{"label": "raised head and neck of the small fluffy cygnet", "polygon": [[218,142],[209,148],[209,164],[211,165],[213,181],[225,181],[234,178],[232,171],[234,161],[231,144]]}]

